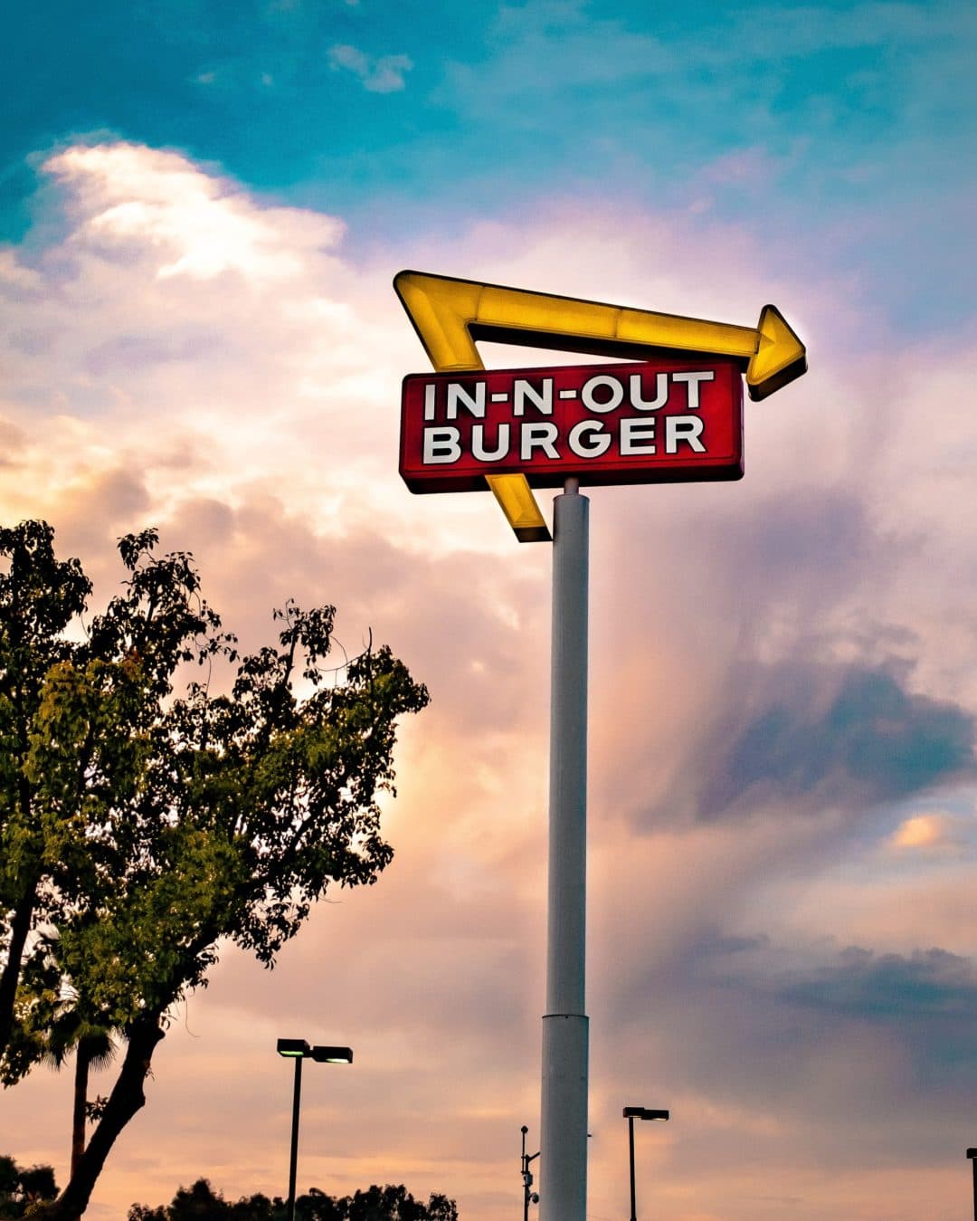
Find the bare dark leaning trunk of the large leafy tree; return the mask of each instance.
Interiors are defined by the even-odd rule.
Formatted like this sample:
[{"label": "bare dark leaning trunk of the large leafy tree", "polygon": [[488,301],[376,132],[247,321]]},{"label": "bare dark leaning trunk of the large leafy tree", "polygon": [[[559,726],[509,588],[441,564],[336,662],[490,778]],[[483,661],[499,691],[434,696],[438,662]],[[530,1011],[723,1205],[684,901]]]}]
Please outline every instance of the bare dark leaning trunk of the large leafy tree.
[{"label": "bare dark leaning trunk of the large leafy tree", "polygon": [[160,1015],[148,1013],[126,1031],[126,1059],[118,1071],[118,1077],[105,1104],[99,1125],[91,1133],[88,1147],[82,1153],[78,1166],[72,1170],[71,1179],[65,1190],[52,1203],[45,1205],[38,1214],[44,1221],[78,1221],[91,1198],[95,1183],[101,1173],[105,1159],[129,1120],[145,1106],[143,1083],[149,1073],[152,1053],[163,1038],[160,1029]]}]

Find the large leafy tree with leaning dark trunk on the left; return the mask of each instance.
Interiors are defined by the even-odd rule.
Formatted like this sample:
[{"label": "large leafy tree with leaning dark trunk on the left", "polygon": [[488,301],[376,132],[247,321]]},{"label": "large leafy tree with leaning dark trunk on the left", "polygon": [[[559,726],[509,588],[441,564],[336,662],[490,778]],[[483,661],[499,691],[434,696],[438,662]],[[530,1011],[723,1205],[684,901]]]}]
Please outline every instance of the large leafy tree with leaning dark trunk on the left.
[{"label": "large leafy tree with leaning dark trunk on the left", "polygon": [[[387,647],[333,678],[331,606],[289,603],[277,643],[239,658],[193,558],[156,542],[120,541],[122,592],[83,631],[90,582],[51,527],[0,530],[0,1074],[50,1056],[66,1012],[124,1046],[51,1221],[84,1211],[218,939],[271,967],[329,884],[389,863],[377,796],[398,718],[428,701]],[[177,697],[190,663],[205,678]],[[229,692],[212,694],[222,663]]]}]

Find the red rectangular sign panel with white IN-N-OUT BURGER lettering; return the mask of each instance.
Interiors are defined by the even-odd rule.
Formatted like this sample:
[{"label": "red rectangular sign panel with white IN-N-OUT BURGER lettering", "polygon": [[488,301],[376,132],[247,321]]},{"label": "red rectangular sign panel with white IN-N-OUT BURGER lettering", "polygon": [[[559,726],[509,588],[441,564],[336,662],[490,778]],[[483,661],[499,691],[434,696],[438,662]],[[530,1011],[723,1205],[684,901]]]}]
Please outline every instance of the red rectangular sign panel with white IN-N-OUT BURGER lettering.
[{"label": "red rectangular sign panel with white IN-N-OUT BURGER lettering", "polygon": [[740,479],[743,382],[735,360],[411,374],[400,474],[412,492]]}]

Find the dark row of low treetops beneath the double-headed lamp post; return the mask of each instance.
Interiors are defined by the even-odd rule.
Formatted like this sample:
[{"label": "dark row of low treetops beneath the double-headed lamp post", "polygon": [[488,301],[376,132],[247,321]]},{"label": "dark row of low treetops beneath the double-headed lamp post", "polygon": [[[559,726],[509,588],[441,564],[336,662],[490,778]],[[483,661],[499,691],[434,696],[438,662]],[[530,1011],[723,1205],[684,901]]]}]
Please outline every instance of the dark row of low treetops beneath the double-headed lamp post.
[{"label": "dark row of low treetops beneath the double-headed lamp post", "polygon": [[[215,1192],[206,1178],[181,1187],[170,1205],[150,1209],[133,1204],[126,1221],[285,1221],[285,1204],[276,1197],[242,1197],[235,1203]],[[457,1221],[457,1208],[445,1195],[427,1204],[403,1186],[370,1187],[353,1195],[332,1197],[312,1187],[295,1200],[296,1221]]]}]

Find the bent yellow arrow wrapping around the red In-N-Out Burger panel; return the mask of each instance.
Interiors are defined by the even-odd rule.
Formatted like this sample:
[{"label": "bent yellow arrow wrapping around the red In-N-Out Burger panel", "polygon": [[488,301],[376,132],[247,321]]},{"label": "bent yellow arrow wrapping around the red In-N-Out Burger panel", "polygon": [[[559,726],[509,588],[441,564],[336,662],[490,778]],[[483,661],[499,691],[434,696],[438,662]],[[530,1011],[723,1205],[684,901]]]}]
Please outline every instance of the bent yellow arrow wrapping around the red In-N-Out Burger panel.
[{"label": "bent yellow arrow wrapping around the red In-N-Out Burger panel", "polygon": [[[753,327],[423,271],[398,272],[394,289],[438,372],[483,369],[478,339],[639,360],[651,350],[733,357],[745,368],[753,399],[807,370],[804,344],[775,305],[765,305]],[[520,541],[550,537],[524,475],[493,475],[488,482]]]}]

